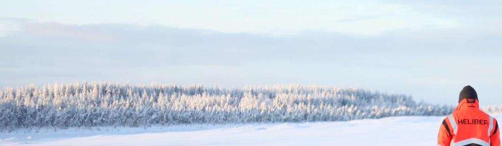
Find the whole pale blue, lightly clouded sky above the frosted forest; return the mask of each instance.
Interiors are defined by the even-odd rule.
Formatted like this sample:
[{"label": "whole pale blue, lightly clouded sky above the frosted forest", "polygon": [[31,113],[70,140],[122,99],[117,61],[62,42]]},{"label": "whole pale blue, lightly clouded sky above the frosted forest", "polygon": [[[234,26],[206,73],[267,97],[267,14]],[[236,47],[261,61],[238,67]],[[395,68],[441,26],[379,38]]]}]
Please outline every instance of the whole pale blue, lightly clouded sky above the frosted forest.
[{"label": "whole pale blue, lightly clouded sky above the frosted forest", "polygon": [[3,1],[0,87],[319,84],[502,104],[499,1]]}]

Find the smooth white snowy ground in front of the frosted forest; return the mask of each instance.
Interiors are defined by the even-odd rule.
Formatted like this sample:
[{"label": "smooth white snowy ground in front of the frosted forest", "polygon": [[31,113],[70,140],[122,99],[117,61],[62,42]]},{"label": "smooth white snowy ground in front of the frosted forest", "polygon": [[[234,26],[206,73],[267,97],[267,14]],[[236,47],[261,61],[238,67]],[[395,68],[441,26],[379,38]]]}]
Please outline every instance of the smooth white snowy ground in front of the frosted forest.
[{"label": "smooth white snowy ground in front of the frosted forest", "polygon": [[442,119],[41,130],[0,133],[0,145],[435,145]]}]

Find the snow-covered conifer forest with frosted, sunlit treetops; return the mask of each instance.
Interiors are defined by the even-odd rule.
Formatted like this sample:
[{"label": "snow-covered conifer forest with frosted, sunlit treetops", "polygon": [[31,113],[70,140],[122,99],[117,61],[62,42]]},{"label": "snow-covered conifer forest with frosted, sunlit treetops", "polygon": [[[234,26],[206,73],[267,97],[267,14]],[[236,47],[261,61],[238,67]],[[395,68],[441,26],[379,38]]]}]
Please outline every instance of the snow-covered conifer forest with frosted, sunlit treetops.
[{"label": "snow-covered conifer forest with frosted, sunlit treetops", "polygon": [[95,126],[307,122],[446,115],[453,107],[359,88],[112,83],[29,85],[0,90],[0,131]]}]

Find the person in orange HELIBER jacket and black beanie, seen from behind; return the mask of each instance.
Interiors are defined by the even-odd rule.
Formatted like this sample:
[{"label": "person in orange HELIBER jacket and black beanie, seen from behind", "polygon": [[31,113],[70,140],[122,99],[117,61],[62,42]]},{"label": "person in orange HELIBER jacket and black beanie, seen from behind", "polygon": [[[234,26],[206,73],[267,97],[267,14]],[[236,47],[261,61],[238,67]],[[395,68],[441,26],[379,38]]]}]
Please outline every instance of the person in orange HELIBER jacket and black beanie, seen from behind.
[{"label": "person in orange HELIBER jacket and black beanie, seen from behind", "polygon": [[444,118],[437,145],[500,145],[497,120],[479,110],[477,93],[471,86],[460,91],[457,108]]}]

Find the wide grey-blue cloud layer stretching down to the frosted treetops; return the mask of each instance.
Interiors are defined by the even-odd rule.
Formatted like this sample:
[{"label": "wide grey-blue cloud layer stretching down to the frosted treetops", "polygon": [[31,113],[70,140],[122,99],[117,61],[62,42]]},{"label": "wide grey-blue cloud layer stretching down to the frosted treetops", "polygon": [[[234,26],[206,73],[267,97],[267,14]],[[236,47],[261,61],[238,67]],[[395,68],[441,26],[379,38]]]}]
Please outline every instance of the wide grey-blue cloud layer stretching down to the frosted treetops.
[{"label": "wide grey-blue cloud layer stretching down to the frosted treetops", "polygon": [[502,35],[482,30],[271,36],[163,26],[18,23],[19,31],[0,37],[0,86],[82,80],[226,86],[316,83],[433,100],[457,92],[451,86],[487,84],[485,78],[502,81],[502,70],[497,69],[502,46],[495,41]]}]

